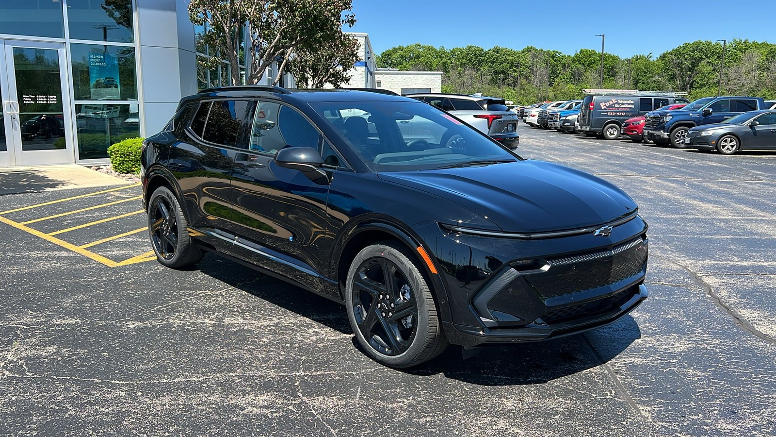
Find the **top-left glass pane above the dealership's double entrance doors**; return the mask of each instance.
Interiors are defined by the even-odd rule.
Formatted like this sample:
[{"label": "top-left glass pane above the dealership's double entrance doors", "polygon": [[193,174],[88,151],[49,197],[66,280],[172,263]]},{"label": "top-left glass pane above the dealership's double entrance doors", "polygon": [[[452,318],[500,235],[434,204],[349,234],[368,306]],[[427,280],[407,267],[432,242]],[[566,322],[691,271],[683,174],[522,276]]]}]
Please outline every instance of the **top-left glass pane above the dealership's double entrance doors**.
[{"label": "top-left glass pane above the dealership's double entrance doors", "polygon": [[64,38],[62,2],[0,0],[0,33]]}]

